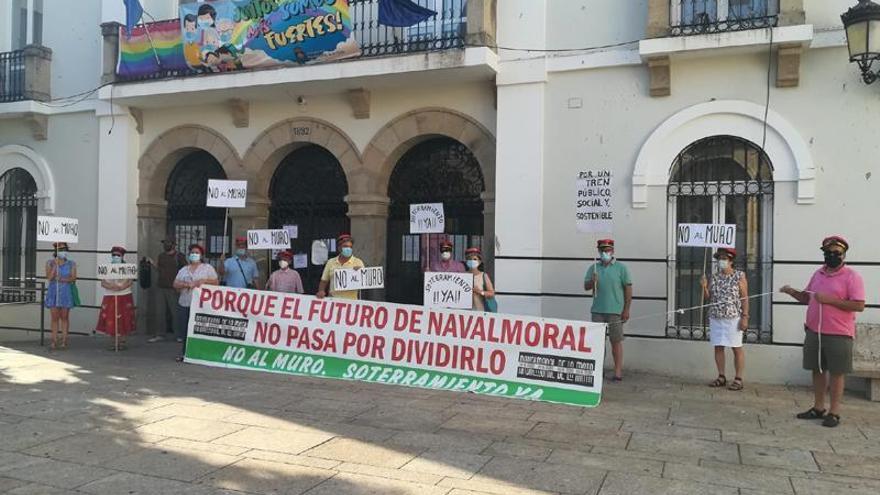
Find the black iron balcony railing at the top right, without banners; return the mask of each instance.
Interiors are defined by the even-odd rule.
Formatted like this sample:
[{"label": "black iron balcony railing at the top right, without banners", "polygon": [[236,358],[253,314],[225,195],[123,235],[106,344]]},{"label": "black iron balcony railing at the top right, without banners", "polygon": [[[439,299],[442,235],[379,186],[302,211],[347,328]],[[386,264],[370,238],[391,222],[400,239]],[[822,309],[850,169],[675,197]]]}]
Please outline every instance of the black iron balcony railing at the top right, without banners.
[{"label": "black iron balcony railing at the top right, without banners", "polygon": [[776,26],[779,0],[670,0],[669,34],[745,31]]}]

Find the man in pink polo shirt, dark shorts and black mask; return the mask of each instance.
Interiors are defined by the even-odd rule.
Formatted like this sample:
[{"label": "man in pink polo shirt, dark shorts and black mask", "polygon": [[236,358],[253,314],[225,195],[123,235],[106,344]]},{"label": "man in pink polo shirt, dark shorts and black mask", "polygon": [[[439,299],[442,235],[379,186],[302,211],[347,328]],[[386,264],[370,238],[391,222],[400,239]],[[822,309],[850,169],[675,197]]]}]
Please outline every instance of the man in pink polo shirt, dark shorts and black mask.
[{"label": "man in pink polo shirt, dark shorts and black mask", "polygon": [[[813,373],[813,407],[798,419],[821,419],[822,426],[840,424],[840,407],[846,374],[852,373],[856,313],[865,310],[862,276],[846,266],[849,243],[833,235],[822,240],[825,264],[813,273],[807,288],[780,289],[807,305],[804,324],[804,369]],[[830,383],[829,383],[830,382]],[[825,390],[831,389],[831,407],[825,409]]]}]

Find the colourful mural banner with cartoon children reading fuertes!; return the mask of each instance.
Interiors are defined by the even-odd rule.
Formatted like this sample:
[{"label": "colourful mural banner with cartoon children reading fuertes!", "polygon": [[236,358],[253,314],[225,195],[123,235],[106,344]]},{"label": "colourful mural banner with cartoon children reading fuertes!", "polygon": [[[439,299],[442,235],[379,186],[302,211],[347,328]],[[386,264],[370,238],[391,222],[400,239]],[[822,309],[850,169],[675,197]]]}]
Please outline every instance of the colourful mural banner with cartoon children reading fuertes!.
[{"label": "colourful mural banner with cartoon children reading fuertes!", "polygon": [[349,0],[217,0],[180,6],[194,70],[303,65],[360,55]]}]

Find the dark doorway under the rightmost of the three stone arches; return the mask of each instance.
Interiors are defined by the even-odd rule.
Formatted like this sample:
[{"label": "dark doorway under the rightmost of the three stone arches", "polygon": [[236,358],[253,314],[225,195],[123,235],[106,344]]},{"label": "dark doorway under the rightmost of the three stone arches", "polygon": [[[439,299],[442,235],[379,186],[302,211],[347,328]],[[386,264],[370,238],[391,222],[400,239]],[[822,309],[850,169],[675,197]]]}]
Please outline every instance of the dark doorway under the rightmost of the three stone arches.
[{"label": "dark doorway under the rightmost of the three stone arches", "polygon": [[[485,190],[477,159],[454,139],[428,139],[400,158],[388,184],[388,301],[422,304],[422,274],[438,257],[438,246],[444,238],[455,244],[453,256],[459,261],[464,260],[467,247],[482,248],[480,195]],[[443,203],[446,232],[410,234],[409,206],[414,203]]]}]

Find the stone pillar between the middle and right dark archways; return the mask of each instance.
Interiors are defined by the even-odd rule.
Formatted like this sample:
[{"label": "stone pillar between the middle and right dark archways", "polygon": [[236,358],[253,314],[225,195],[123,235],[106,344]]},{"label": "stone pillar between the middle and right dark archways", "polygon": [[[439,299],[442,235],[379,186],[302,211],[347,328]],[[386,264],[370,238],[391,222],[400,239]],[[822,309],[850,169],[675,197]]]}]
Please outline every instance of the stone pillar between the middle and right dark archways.
[{"label": "stone pillar between the middle and right dark archways", "polygon": [[[385,266],[385,250],[388,239],[388,196],[381,194],[349,194],[348,218],[351,219],[351,235],[354,237],[355,256],[367,266]],[[370,299],[385,299],[385,291],[367,291]]]}]

